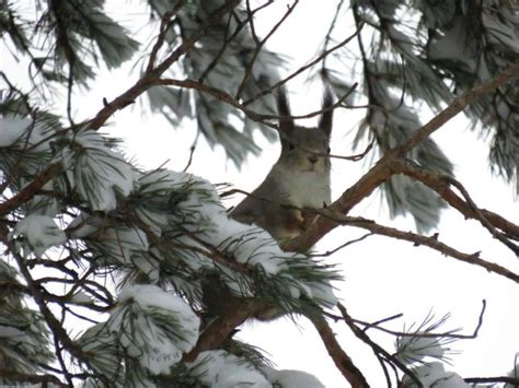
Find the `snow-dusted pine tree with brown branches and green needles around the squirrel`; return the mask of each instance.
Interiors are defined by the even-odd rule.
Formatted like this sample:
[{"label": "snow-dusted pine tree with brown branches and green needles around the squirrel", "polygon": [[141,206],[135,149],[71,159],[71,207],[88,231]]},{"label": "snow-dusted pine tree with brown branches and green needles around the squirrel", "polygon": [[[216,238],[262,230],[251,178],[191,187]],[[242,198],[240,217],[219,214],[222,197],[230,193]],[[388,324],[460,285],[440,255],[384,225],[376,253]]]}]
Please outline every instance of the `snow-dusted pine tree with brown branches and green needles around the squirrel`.
[{"label": "snow-dusted pine tree with brown branches and green needles around the squirrel", "polygon": [[[500,378],[446,372],[450,343],[476,338],[485,304],[473,336],[441,330],[448,316],[432,313],[395,332],[384,326],[391,318],[353,318],[334,295],[338,269],[311,250],[348,225],[519,281],[427,235],[441,209],[453,208],[519,256],[519,226],[478,208],[430,138],[463,110],[476,134],[492,138],[492,171],[519,181],[517,4],[341,0],[320,51],[292,70],[268,39],[297,0],[264,35],[257,27],[273,1],[136,1],[139,12],[126,26],[107,11],[115,3],[0,2],[2,56],[19,61],[0,72],[0,385],[322,386],[308,373],[276,371],[261,350],[233,337],[258,301],[295,320],[309,318],[354,387],[373,376],[337,341],[331,319],[372,349],[388,386],[519,384],[517,366]],[[78,94],[128,64],[135,81],[88,117]],[[265,231],[228,217],[229,191],[185,171],[142,169],[125,156],[122,140],[103,133],[132,107],[163,116],[172,130],[194,120],[204,141],[241,166],[261,152],[256,130],[277,139],[274,92],[301,73],[335,93],[334,109],[364,107],[353,146],[368,145],[332,156],[370,168],[282,249]],[[424,108],[436,115],[425,125]],[[349,215],[379,187],[391,216],[410,214],[416,233]],[[208,294],[233,308],[209,316]],[[395,336],[394,350],[368,329]]]}]

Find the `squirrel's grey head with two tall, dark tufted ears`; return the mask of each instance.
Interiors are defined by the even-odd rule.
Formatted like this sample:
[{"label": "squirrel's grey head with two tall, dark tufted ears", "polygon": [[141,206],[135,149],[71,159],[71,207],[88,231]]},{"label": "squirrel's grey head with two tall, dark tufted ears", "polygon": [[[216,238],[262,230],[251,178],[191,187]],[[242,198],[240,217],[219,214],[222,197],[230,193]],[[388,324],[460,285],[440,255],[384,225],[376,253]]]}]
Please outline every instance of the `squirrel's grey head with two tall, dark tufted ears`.
[{"label": "squirrel's grey head with two tall, dark tufted ears", "polygon": [[281,139],[281,155],[278,167],[297,173],[328,174],[330,136],[332,132],[333,109],[332,92],[325,89],[323,114],[319,126],[307,128],[297,126],[290,117],[290,107],[282,87],[277,94],[279,118],[279,137]]}]

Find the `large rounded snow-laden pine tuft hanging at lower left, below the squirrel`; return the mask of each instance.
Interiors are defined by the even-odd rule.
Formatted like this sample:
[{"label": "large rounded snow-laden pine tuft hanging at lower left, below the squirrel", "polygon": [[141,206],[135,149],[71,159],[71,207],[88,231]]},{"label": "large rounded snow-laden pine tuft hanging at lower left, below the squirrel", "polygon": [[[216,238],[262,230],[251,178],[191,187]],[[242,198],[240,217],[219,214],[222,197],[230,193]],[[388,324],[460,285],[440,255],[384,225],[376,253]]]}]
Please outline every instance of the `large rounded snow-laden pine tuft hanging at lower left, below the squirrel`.
[{"label": "large rounded snow-laden pine tuft hanging at lower left, below the squirrel", "polygon": [[178,296],[155,285],[132,285],[119,295],[107,330],[153,375],[170,373],[198,339],[199,319]]}]

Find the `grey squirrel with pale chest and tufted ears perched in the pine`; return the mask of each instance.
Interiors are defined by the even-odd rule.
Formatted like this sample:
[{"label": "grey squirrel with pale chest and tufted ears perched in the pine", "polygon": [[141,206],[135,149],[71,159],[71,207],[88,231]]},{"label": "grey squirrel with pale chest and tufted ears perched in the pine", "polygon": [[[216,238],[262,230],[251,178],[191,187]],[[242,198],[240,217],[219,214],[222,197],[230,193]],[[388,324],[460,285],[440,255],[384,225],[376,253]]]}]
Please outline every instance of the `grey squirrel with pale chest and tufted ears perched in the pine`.
[{"label": "grey squirrel with pale chest and tufted ears perched in the pine", "polygon": [[[325,89],[323,113],[318,128],[297,126],[284,89],[277,93],[281,154],[263,183],[229,216],[267,231],[276,242],[299,236],[313,222],[312,209],[331,203],[330,136],[333,120],[333,96]],[[209,316],[226,315],[235,297],[217,286],[218,274],[204,282],[204,304]],[[258,301],[253,318],[262,321],[284,314],[276,306]]]}]

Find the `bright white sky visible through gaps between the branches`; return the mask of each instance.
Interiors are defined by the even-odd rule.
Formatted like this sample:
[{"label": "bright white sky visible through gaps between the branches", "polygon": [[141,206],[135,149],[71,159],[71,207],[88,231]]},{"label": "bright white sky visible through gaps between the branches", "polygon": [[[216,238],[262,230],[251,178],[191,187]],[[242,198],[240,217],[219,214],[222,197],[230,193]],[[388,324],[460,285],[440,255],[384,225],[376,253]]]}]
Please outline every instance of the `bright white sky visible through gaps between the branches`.
[{"label": "bright white sky visible through gaps between the branches", "polygon": [[[286,1],[278,1],[264,20],[272,23],[279,17]],[[275,8],[276,7],[276,8]],[[310,59],[320,47],[328,27],[335,2],[301,1],[293,15],[273,38],[270,49],[295,58],[287,72],[293,71]],[[129,12],[129,11],[127,11]],[[129,13],[128,13],[129,14]],[[129,14],[130,15],[130,14]],[[258,20],[260,22],[261,20]],[[260,25],[261,28],[261,25]],[[338,28],[339,37],[346,37],[350,30]],[[4,58],[7,56],[3,56]],[[2,68],[4,64],[2,64]],[[128,74],[129,67],[100,78],[100,82],[81,97],[77,97],[76,109],[79,118],[85,118],[102,107],[102,98],[108,101],[123,92],[137,73]],[[9,63],[7,64],[9,73]],[[303,84],[305,75],[289,83],[292,113],[304,114],[319,108],[321,95],[319,86]],[[361,80],[354,80],[361,82]],[[109,85],[107,87],[107,85]],[[136,104],[138,107],[139,104]],[[170,160],[168,167],[184,168],[189,146],[195,137],[193,122],[183,121],[182,128],[174,129],[160,117],[141,117],[138,109],[125,109],[112,118],[112,126],[105,132],[123,138],[128,156],[139,166],[155,168]],[[362,111],[341,111],[335,115],[332,153],[351,154],[350,130],[356,126]],[[423,122],[430,114],[420,115]],[[469,122],[462,116],[440,129],[435,139],[455,164],[458,179],[463,183],[475,203],[482,208],[503,214],[511,222],[519,223],[519,205],[514,201],[511,186],[489,173],[488,146],[484,139],[468,129]],[[241,172],[226,161],[221,149],[215,151],[199,142],[189,172],[209,179],[211,183],[232,183],[237,188],[254,189],[267,174],[277,158],[278,144],[260,144],[265,152],[260,157],[250,157]],[[366,171],[362,162],[333,161],[333,192],[337,198]],[[226,204],[234,204],[229,201]],[[390,221],[388,212],[380,207],[380,195],[376,193],[356,207],[351,214],[376,219],[378,222],[413,230],[410,219]],[[438,227],[440,239],[464,252],[482,251],[481,257],[495,261],[515,271],[517,259],[511,251],[494,242],[489,234],[474,221],[466,221],[455,211],[445,211]],[[350,227],[336,228],[315,248],[324,251],[345,240],[364,234]],[[400,330],[403,324],[422,321],[430,309],[441,317],[451,313],[452,318],[445,329],[463,327],[463,333],[472,333],[477,324],[481,301],[487,301],[484,325],[476,340],[455,342],[452,348],[463,351],[454,355],[452,369],[463,377],[505,375],[512,368],[514,357],[519,350],[519,294],[509,280],[489,274],[481,268],[443,257],[425,247],[413,247],[384,237],[369,237],[349,246],[326,259],[338,263],[345,278],[337,284],[337,295],[355,318],[378,320],[403,313],[404,318],[388,328]],[[275,322],[247,324],[239,334],[251,343],[267,351],[279,368],[301,369],[316,375],[326,387],[344,386],[344,378],[333,365],[311,325],[300,320],[297,328],[288,319]],[[371,350],[355,339],[344,324],[333,324],[339,343],[364,371],[373,387],[384,384],[383,373]],[[393,338],[368,331],[392,352]]]}]

